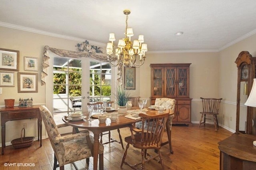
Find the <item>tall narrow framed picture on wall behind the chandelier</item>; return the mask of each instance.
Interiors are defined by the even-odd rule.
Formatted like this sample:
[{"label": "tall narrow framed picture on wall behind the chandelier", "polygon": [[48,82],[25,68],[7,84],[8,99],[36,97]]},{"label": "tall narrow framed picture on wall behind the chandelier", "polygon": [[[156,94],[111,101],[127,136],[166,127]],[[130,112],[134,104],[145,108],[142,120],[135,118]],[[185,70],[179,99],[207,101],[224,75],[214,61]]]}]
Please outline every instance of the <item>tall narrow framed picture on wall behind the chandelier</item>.
[{"label": "tall narrow framed picture on wall behind the chandelier", "polygon": [[124,87],[125,89],[135,90],[136,87],[136,67],[124,67]]}]

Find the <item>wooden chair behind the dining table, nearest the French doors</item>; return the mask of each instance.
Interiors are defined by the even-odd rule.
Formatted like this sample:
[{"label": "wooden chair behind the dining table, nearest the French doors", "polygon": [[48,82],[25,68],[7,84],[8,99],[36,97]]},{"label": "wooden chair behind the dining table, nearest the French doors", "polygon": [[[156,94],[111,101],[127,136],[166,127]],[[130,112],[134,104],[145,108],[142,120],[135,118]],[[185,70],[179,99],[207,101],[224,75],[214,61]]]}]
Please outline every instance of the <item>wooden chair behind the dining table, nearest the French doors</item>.
[{"label": "wooden chair behind the dining table, nearest the French doors", "polygon": [[[107,102],[107,106],[112,106],[112,104],[114,103],[114,101],[108,101]],[[99,111],[102,109],[102,105],[103,102],[94,102],[94,103],[87,103],[87,105],[93,105],[94,106],[94,111]],[[120,129],[117,129],[117,132],[119,134],[119,139],[120,141],[118,142],[117,140],[114,140],[113,138],[111,138],[111,132],[108,131],[107,133],[101,133],[100,134],[100,143],[102,143],[102,136],[105,134],[108,134],[108,142],[102,143],[102,144],[108,144],[108,143],[112,143],[112,142],[118,142],[122,145],[122,148],[124,149],[124,144],[123,144],[123,140],[122,140],[122,136],[120,134]]]}]

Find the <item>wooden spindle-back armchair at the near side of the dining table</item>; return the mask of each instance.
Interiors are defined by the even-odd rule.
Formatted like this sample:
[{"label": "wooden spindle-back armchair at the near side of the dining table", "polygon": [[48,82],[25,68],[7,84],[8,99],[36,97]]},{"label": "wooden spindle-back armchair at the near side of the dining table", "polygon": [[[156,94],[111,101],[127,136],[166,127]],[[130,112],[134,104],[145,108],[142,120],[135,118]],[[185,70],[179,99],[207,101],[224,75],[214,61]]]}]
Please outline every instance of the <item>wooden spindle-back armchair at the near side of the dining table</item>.
[{"label": "wooden spindle-back armchair at the near side of the dining table", "polygon": [[[131,136],[127,136],[124,140],[127,142],[126,150],[124,151],[124,155],[121,162],[121,168],[123,164],[130,166],[132,169],[136,169],[138,165],[141,164],[141,169],[145,169],[145,163],[154,159],[156,160],[159,157],[158,162],[161,163],[162,169],[164,169],[164,162],[162,159],[162,154],[160,152],[162,136],[164,129],[166,127],[166,121],[169,117],[170,109],[168,109],[168,113],[159,114],[159,115],[147,115],[144,113],[139,113],[139,116],[142,117],[142,129],[138,129],[133,125],[130,126]],[[152,126],[144,127],[145,123],[151,122]],[[136,132],[134,134],[134,132]],[[134,148],[141,149],[141,162],[136,163],[134,165],[125,162],[127,150],[132,144]],[[150,155],[147,153],[148,149],[155,149],[158,151],[156,155]],[[148,158],[146,158],[148,156]],[[136,158],[133,158],[136,159]],[[150,168],[147,168],[150,169]]]}]

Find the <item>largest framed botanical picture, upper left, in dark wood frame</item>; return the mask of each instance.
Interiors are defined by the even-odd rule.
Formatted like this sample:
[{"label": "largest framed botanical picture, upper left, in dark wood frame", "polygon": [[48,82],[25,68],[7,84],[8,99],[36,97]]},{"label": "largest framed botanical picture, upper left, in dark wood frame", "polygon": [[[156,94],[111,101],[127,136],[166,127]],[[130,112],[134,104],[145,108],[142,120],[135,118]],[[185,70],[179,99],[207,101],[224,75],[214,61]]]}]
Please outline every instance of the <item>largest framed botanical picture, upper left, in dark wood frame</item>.
[{"label": "largest framed botanical picture, upper left, in dark wood frame", "polygon": [[0,48],[0,70],[19,71],[20,51]]}]

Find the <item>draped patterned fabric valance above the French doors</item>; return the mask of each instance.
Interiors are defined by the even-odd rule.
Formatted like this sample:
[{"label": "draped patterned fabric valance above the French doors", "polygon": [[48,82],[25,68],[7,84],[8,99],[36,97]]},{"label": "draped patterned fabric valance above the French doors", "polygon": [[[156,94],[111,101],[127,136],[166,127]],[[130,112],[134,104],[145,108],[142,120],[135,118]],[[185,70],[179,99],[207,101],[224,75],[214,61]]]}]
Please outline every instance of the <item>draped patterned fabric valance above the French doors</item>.
[{"label": "draped patterned fabric valance above the French doors", "polygon": [[[93,48],[93,45],[91,45],[91,48]],[[108,57],[106,55],[96,54],[94,49],[91,49],[92,52],[89,52],[90,49],[84,50],[84,52],[80,52],[81,50],[79,52],[76,52],[76,51],[68,51],[65,49],[56,49],[46,45],[44,47],[44,54],[43,54],[43,61],[42,61],[41,85],[45,84],[45,78],[48,75],[47,68],[50,66],[48,61],[50,59],[49,51],[60,57],[66,57],[66,58],[91,57],[100,62],[108,62]]]}]

